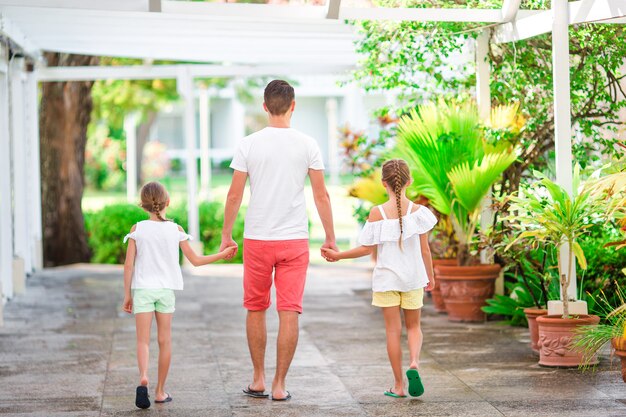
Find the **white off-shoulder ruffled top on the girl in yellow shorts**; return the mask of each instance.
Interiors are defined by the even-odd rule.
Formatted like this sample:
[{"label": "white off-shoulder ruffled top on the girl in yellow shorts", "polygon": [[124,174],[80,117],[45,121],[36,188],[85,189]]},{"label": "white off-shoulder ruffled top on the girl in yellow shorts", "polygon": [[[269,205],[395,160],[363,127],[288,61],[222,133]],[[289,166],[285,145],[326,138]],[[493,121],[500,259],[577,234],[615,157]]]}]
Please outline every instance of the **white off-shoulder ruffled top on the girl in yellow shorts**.
[{"label": "white off-shoulder ruffled top on the girl in yellow shorts", "polygon": [[414,213],[409,203],[407,214],[402,217],[402,249],[400,222],[388,219],[378,206],[383,220],[366,222],[359,234],[359,244],[378,247],[376,266],[372,275],[372,291],[411,291],[428,285],[428,275],[422,259],[419,235],[431,230],[437,218],[426,207],[420,206]]}]

